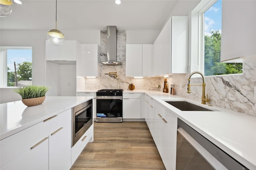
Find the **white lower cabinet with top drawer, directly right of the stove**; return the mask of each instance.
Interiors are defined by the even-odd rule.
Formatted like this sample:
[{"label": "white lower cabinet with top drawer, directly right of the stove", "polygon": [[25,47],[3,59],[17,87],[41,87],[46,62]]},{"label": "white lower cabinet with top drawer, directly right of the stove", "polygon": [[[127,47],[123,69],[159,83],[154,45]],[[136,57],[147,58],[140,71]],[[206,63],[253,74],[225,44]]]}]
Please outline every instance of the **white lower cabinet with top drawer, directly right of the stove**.
[{"label": "white lower cabinet with top drawer, directly right of the stove", "polygon": [[140,93],[123,93],[123,118],[140,119]]}]

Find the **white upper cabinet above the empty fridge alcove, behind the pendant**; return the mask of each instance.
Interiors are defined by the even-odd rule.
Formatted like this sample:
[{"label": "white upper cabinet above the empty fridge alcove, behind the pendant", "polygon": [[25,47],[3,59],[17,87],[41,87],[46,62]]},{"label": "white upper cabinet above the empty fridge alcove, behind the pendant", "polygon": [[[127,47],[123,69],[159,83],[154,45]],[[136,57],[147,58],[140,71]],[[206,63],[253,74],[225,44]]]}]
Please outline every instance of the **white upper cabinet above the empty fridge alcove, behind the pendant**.
[{"label": "white upper cabinet above the empty fridge alcove, behind the pendant", "polygon": [[[62,45],[52,45],[46,40],[46,60],[47,61],[73,61],[81,55],[81,45],[78,41],[66,40]],[[58,63],[58,62],[57,62]]]}]

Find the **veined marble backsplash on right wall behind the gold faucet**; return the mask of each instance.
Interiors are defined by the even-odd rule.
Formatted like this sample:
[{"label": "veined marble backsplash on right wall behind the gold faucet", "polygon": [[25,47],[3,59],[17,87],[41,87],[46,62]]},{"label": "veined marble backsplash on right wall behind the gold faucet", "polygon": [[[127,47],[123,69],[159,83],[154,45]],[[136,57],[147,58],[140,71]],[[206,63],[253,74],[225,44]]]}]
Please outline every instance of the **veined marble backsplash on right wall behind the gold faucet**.
[{"label": "veined marble backsplash on right wall behind the gold faucet", "polygon": [[[194,74],[190,83],[202,84],[201,76],[193,78],[196,75],[199,74]],[[200,102],[202,86],[191,86],[191,94],[186,93],[188,76],[189,74],[174,74],[167,78],[167,81],[168,84],[175,84],[177,95]],[[208,104],[256,117],[256,101],[254,100],[255,63],[244,63],[243,74],[206,76],[205,81],[206,94],[210,99]],[[164,82],[164,78],[161,82]],[[163,83],[161,86],[163,86]],[[180,90],[180,86],[182,90]]]}]

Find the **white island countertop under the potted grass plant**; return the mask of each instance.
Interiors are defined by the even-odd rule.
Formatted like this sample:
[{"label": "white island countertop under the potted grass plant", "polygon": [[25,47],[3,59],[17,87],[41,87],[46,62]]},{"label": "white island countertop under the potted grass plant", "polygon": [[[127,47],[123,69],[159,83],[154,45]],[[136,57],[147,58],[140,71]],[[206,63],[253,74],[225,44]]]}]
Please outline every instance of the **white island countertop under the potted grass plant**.
[{"label": "white island countertop under the potted grass plant", "polygon": [[27,107],[21,100],[0,104],[0,140],[90,99],[92,97],[46,96],[38,106]]}]

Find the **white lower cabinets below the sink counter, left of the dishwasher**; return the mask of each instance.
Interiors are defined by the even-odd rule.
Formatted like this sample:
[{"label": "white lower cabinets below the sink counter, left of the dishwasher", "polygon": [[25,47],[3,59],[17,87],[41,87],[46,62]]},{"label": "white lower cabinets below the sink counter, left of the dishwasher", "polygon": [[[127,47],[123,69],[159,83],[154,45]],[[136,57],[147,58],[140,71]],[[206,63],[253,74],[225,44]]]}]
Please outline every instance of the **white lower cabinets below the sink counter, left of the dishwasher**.
[{"label": "white lower cabinets below the sink counter, left of the dishwasher", "polygon": [[145,120],[167,170],[176,168],[177,117],[150,96],[145,96]]}]

